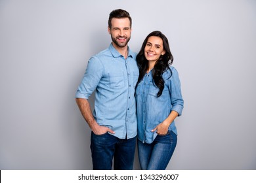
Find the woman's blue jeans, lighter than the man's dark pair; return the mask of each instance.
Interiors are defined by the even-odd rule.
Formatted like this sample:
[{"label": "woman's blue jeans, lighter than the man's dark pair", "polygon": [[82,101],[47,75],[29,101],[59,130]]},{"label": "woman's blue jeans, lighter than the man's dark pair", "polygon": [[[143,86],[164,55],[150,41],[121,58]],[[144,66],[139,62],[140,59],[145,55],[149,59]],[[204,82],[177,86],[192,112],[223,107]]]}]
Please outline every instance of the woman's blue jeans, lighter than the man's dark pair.
[{"label": "woman's blue jeans, lighter than the man's dark pair", "polygon": [[152,144],[138,141],[140,168],[142,170],[165,170],[177,144],[177,135],[168,131],[158,135]]}]

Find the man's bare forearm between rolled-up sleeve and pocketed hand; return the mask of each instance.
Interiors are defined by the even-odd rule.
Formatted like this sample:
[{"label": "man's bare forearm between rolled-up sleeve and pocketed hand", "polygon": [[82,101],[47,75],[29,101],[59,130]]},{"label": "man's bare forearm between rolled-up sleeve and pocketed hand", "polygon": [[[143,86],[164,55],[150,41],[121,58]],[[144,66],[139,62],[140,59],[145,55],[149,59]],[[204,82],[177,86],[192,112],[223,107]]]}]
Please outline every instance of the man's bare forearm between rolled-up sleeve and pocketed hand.
[{"label": "man's bare forearm between rolled-up sleeve and pocketed hand", "polygon": [[85,121],[89,125],[89,127],[94,131],[96,127],[98,127],[98,124],[95,121],[95,118],[93,118],[93,113],[91,112],[91,106],[89,104],[89,101],[87,99],[81,99],[81,98],[76,98],[75,99],[79,110],[85,118]]}]

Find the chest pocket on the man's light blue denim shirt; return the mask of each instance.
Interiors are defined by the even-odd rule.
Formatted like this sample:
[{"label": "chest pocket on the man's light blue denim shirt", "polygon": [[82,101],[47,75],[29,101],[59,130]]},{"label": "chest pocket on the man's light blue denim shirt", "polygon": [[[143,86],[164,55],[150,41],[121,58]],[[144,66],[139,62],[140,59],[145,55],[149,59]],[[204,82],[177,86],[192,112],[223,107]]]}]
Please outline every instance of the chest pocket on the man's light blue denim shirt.
[{"label": "chest pocket on the man's light blue denim shirt", "polygon": [[125,76],[122,71],[116,73],[108,73],[110,88],[123,88],[125,86]]}]

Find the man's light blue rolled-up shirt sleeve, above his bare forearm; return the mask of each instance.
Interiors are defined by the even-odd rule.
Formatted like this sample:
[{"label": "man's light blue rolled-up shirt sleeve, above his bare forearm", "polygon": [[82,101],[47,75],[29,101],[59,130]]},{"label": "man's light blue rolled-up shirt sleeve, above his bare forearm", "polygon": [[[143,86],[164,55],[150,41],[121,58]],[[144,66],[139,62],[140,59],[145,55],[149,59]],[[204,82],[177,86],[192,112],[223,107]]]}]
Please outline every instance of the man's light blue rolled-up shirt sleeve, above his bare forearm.
[{"label": "man's light blue rolled-up shirt sleeve, above his bare forearm", "polygon": [[85,75],[83,76],[81,84],[79,84],[77,88],[75,98],[89,99],[98,86],[103,74],[104,67],[100,60],[96,57],[89,59]]}]

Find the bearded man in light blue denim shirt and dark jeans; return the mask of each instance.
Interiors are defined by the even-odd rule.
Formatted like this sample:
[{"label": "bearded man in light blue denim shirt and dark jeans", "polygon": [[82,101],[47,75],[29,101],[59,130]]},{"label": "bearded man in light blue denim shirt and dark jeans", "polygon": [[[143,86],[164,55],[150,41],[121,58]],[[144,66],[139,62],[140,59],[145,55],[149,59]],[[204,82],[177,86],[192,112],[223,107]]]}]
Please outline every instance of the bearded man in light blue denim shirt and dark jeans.
[{"label": "bearded man in light blue denim shirt and dark jeans", "polygon": [[[93,169],[133,169],[137,135],[135,86],[139,69],[131,38],[129,12],[113,10],[108,19],[112,43],[89,59],[76,102],[91,127]],[[88,99],[95,92],[95,110]]]}]

